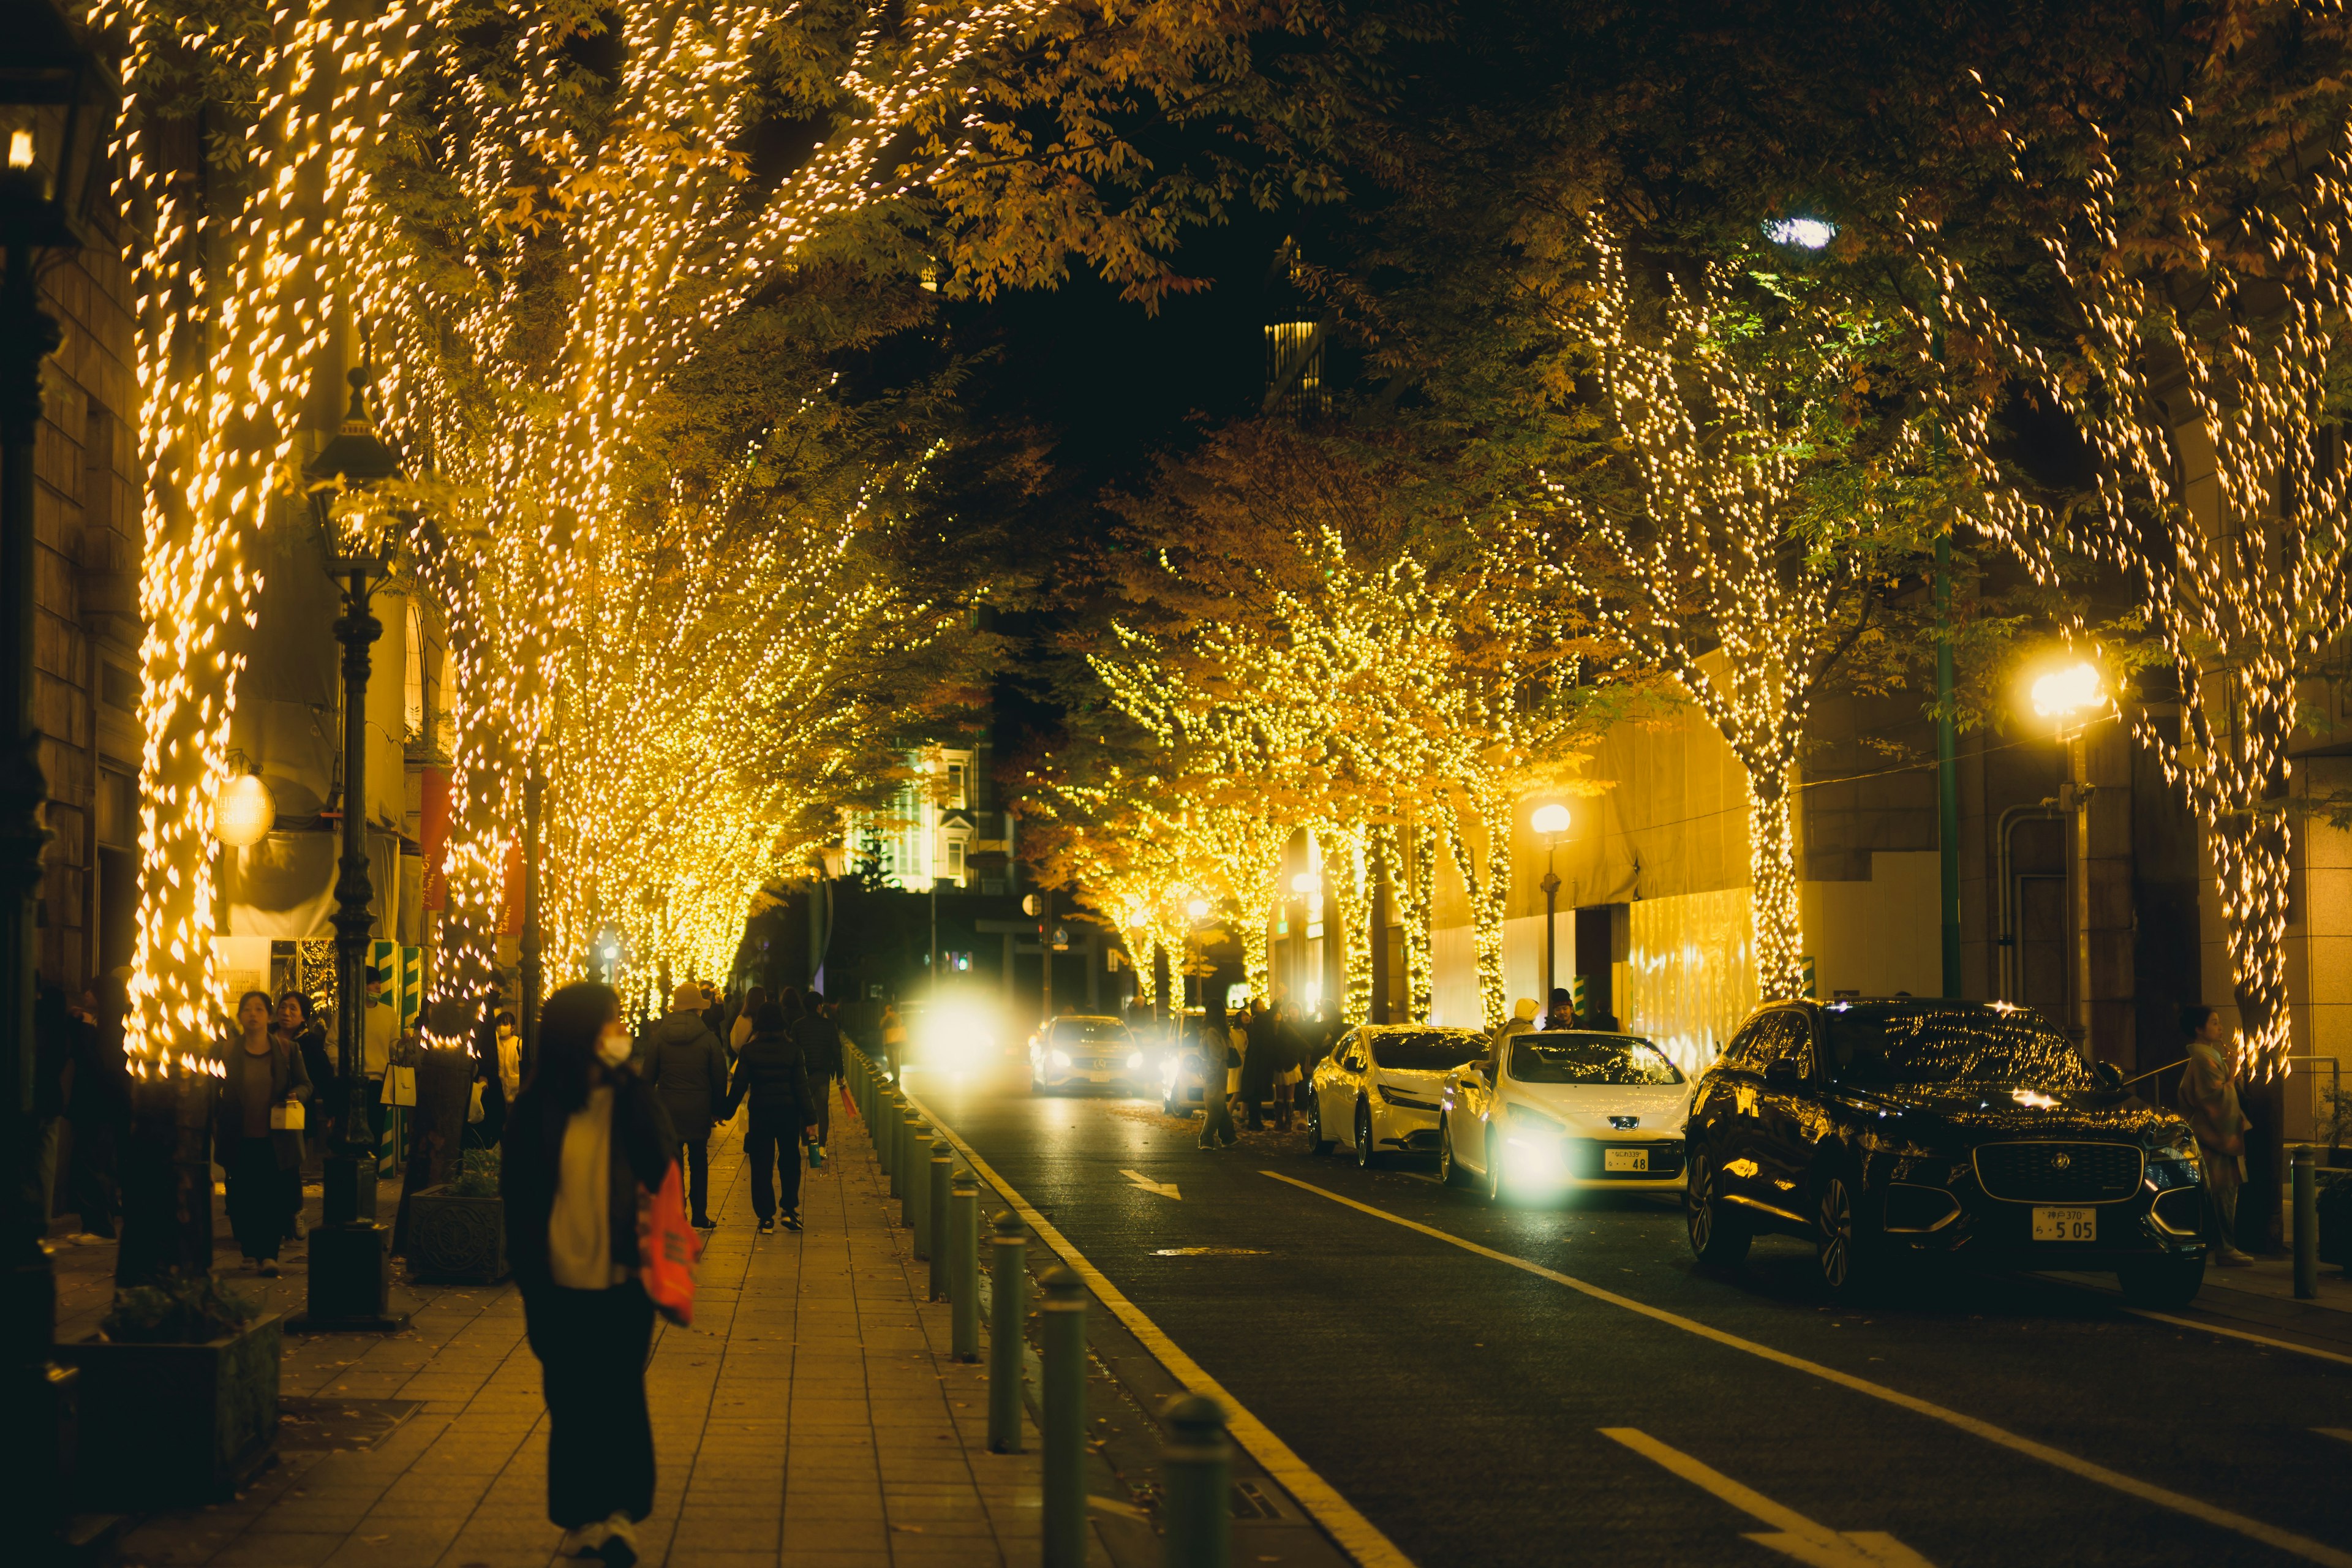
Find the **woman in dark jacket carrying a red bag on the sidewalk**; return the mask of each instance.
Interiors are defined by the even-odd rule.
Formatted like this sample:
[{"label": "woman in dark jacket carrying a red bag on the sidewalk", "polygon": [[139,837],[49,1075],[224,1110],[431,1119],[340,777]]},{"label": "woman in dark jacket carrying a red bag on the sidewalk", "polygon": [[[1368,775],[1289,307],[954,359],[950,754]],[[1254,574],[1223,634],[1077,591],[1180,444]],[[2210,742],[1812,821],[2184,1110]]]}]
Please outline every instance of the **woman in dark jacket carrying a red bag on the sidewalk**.
[{"label": "woman in dark jacket carrying a red bag on the sidewalk", "polygon": [[654,1300],[637,1281],[637,1194],[661,1192],[677,1164],[670,1117],[628,1056],[609,985],[548,997],[499,1164],[522,1328],[548,1399],[548,1519],[564,1533],[562,1556],[607,1568],[637,1561],[637,1523],[654,1512]]}]

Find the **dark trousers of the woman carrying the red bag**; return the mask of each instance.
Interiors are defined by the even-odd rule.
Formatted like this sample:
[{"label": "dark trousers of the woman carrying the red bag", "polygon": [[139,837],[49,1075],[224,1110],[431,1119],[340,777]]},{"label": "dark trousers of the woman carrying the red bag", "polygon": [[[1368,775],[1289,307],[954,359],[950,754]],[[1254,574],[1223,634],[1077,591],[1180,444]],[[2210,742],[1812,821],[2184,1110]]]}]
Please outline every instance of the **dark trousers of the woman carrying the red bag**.
[{"label": "dark trousers of the woman carrying the red bag", "polygon": [[574,1530],[614,1514],[652,1514],[652,1298],[635,1281],[609,1291],[529,1286],[522,1328],[548,1389],[548,1519]]}]

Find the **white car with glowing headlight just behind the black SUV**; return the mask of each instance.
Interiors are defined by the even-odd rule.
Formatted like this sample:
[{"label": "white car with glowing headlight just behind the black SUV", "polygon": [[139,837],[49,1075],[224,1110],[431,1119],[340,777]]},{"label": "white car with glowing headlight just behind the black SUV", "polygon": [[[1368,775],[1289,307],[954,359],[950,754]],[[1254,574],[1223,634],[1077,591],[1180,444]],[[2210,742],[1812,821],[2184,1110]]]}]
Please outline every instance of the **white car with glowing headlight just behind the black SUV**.
[{"label": "white car with glowing headlight just behind the black SUV", "polygon": [[1446,1077],[1437,1173],[1491,1201],[1682,1192],[1691,1079],[1639,1034],[1548,1030]]}]

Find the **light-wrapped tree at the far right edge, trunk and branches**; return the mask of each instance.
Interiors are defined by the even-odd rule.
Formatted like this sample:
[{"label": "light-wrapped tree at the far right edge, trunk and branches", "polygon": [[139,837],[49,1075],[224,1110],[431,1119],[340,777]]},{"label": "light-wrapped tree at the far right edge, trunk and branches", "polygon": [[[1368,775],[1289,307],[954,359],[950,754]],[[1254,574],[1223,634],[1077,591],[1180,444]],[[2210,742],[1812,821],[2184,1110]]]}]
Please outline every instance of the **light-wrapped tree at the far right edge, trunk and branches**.
[{"label": "light-wrapped tree at the far right edge, trunk and branches", "polygon": [[[2343,16],[2303,7],[2218,33],[2131,14],[2091,80],[1978,78],[1955,115],[1987,150],[1980,200],[1893,223],[1931,280],[1922,320],[1947,346],[1990,527],[2042,578],[2070,550],[2119,569],[2136,658],[2178,689],[2178,733],[2114,696],[2206,830],[2256,1081],[2291,1053],[2298,684],[2352,625],[2345,45]],[[2016,381],[2084,435],[2089,505],[2002,475],[1990,409]]]}]

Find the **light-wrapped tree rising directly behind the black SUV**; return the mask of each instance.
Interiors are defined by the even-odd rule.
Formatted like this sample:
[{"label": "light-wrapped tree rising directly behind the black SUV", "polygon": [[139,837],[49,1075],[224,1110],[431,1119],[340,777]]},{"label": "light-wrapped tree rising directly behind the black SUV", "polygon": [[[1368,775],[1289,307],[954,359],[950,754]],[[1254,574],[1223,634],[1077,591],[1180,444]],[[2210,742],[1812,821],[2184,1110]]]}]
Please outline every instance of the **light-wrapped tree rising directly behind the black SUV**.
[{"label": "light-wrapped tree rising directly behind the black SUV", "polygon": [[[1595,484],[1552,487],[1576,588],[1635,658],[1675,677],[1748,773],[1757,994],[1804,992],[1792,780],[1813,696],[1872,630],[1872,557],[1915,548],[1870,494],[1839,487],[1842,400],[1872,334],[1748,263],[1698,263],[1646,284],[1595,223],[1592,336],[1618,458]],[[1898,428],[1891,477],[1922,458]],[[1823,517],[1828,498],[1835,517]],[[1844,510],[1851,508],[1851,510]]]}]

